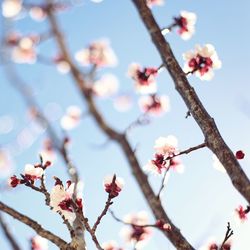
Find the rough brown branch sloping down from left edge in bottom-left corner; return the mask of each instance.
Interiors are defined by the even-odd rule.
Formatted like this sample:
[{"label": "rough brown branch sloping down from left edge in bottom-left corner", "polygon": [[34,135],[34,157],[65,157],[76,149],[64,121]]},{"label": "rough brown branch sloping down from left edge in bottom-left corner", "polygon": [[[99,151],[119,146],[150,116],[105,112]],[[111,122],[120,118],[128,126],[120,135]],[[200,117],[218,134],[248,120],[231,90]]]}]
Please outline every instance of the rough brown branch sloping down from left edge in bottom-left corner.
[{"label": "rough brown branch sloping down from left edge in bottom-left corner", "polygon": [[20,222],[26,224],[27,226],[31,227],[36,231],[37,234],[39,234],[41,237],[48,239],[49,241],[53,242],[56,246],[58,246],[60,249],[72,249],[68,245],[66,241],[58,237],[57,235],[51,233],[48,230],[45,230],[40,224],[38,224],[36,221],[32,220],[26,215],[23,215],[13,208],[7,206],[3,202],[0,201],[0,210],[9,214],[13,218],[19,220]]}]

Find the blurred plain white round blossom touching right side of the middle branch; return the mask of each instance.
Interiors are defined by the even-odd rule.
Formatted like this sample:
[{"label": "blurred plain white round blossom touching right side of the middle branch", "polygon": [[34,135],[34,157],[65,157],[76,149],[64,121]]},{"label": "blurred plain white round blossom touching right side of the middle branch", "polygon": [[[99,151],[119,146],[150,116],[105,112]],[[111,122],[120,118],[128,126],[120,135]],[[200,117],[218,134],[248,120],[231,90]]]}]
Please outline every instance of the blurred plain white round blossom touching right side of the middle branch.
[{"label": "blurred plain white round blossom touching right side of the middle branch", "polygon": [[103,75],[92,87],[94,93],[99,97],[110,97],[118,91],[119,82],[112,74]]}]

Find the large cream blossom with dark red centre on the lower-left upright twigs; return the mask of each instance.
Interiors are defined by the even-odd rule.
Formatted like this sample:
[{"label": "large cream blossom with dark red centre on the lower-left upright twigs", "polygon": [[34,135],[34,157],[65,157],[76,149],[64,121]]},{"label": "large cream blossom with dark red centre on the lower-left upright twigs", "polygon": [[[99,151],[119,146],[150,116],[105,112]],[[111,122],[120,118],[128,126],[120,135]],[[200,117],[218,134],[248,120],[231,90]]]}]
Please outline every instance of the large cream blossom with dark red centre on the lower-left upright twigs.
[{"label": "large cream blossom with dark red centre on the lower-left upright twigs", "polygon": [[[76,217],[71,205],[74,192],[74,183],[68,181],[67,187],[64,188],[62,182],[58,178],[55,179],[55,186],[50,192],[50,206],[52,207],[53,211],[61,213],[66,220],[73,222]],[[81,200],[78,200],[78,207],[80,206],[81,208],[81,204]]]}]

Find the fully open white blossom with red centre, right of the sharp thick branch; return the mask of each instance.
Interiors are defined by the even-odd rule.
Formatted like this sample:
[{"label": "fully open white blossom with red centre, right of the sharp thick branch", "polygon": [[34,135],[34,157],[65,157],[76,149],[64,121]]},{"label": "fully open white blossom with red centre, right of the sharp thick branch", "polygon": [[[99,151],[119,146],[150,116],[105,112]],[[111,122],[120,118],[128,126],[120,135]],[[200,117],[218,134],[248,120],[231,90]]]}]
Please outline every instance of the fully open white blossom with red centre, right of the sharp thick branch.
[{"label": "fully open white blossom with red centre, right of the sharp thick branch", "polygon": [[201,80],[211,80],[214,76],[213,70],[221,68],[221,61],[211,44],[203,47],[196,45],[194,51],[183,54],[183,59],[186,61],[184,72],[195,73]]}]

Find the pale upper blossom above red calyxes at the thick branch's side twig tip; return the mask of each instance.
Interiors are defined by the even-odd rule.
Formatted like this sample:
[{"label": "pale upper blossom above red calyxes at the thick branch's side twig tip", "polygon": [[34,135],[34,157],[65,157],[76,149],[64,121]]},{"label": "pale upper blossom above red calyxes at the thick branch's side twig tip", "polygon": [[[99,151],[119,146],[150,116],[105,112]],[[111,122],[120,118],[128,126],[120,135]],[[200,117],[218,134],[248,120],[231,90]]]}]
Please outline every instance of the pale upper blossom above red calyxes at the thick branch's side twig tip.
[{"label": "pale upper blossom above red calyxes at the thick branch's side twig tip", "polygon": [[154,150],[157,154],[162,154],[165,157],[171,157],[178,153],[178,140],[175,136],[159,137],[155,141]]}]

